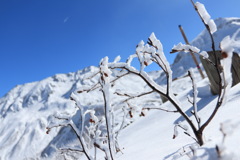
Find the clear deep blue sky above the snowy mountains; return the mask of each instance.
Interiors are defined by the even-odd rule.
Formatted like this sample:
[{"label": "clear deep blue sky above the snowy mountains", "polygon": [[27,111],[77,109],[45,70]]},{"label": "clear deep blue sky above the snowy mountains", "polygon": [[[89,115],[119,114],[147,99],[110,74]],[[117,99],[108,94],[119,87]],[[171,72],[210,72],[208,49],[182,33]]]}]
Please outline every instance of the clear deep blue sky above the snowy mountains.
[{"label": "clear deep blue sky above the snowy mountains", "polygon": [[[200,1],[200,0],[199,0]],[[201,0],[212,18],[239,17],[240,0]],[[190,0],[0,0],[0,97],[18,84],[134,53],[155,32],[169,51],[203,25]]]}]

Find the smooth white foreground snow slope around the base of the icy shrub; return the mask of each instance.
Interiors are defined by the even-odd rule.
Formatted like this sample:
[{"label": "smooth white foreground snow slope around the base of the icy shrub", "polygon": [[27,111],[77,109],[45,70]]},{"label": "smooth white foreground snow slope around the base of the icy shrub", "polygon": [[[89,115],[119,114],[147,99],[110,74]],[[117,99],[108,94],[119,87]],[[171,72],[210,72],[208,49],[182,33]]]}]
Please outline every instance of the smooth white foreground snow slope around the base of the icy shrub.
[{"label": "smooth white foreground snow slope around the base of the icy shrub", "polygon": [[[231,155],[236,155],[236,160],[240,158],[240,138],[238,136],[240,133],[239,87],[240,85],[235,86],[231,90],[229,102],[220,109],[218,115],[206,129],[205,141],[207,143],[197,150],[197,155],[201,156],[201,158],[199,158],[200,160],[216,159],[215,146],[219,144],[222,145],[221,142],[223,138],[223,135],[219,131],[220,123],[228,121],[228,123],[236,127],[229,127],[229,130],[231,130],[229,132],[232,133],[229,133],[224,143],[227,148],[226,151],[231,153]],[[206,80],[198,83],[198,88],[200,89],[198,106],[201,108],[199,113],[200,116],[203,117],[203,120],[206,120],[205,118],[210,114],[210,110],[215,106],[216,97],[211,96]],[[183,106],[186,107],[186,110],[191,107],[186,99],[188,94],[190,94],[190,89],[186,90],[179,97]],[[170,106],[169,103],[164,105]],[[179,130],[179,136],[176,139],[172,139],[174,130],[173,123],[179,118],[178,114],[161,111],[150,112],[147,117],[137,121],[123,131],[120,142],[124,147],[124,154],[119,155],[119,159],[170,160],[174,159],[174,157],[175,159],[189,159],[187,154],[190,148],[188,146],[193,145],[194,141],[181,130]],[[229,159],[230,158],[227,158],[226,160]]]}]

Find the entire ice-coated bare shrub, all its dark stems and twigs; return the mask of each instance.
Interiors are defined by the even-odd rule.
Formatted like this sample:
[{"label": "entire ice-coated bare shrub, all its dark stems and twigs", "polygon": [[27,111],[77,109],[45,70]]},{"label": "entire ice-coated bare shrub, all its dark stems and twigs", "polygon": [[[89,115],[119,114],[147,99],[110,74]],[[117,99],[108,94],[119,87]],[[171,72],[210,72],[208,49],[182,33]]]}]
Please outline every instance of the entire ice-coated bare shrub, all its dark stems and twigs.
[{"label": "entire ice-coated bare shrub, all its dark stems and twigs", "polygon": [[[212,40],[213,53],[215,54],[215,57],[217,57],[215,53],[215,43],[212,36],[212,34],[217,30],[216,25],[214,21],[210,18],[210,15],[207,13],[203,4],[196,2],[193,3],[193,5],[200,18],[202,19],[204,25],[206,26],[207,30],[209,31],[209,35]],[[189,71],[189,77],[192,80],[193,94],[192,96],[189,96],[188,99],[189,102],[193,105],[193,110],[191,112],[193,116],[189,116],[184,112],[181,102],[178,100],[177,96],[173,94],[172,91],[172,70],[170,64],[168,63],[164,55],[162,43],[155,36],[155,34],[152,33],[148,38],[147,43],[144,43],[144,41],[140,41],[140,43],[136,47],[135,54],[130,55],[126,62],[121,62],[120,56],[116,57],[113,62],[109,62],[108,57],[103,58],[100,61],[98,72],[91,76],[95,77],[98,75],[98,83],[91,86],[90,88],[83,87],[78,92],[72,93],[71,99],[76,103],[76,106],[81,113],[80,127],[76,126],[76,124],[73,123],[71,116],[65,117],[61,115],[56,115],[55,118],[58,119],[59,122],[56,121],[53,125],[49,126],[48,131],[50,131],[51,128],[58,126],[70,126],[78,137],[78,140],[81,144],[81,149],[66,148],[65,150],[75,150],[83,152],[87,159],[96,159],[96,150],[99,149],[105,153],[106,159],[115,159],[115,154],[121,151],[121,148],[118,144],[118,135],[120,134],[121,130],[129,124],[127,123],[127,119],[132,118],[133,113],[137,110],[140,111],[141,116],[145,116],[146,114],[146,108],[144,109],[143,106],[136,107],[134,105],[131,105],[129,101],[134,98],[137,99],[139,97],[155,93],[159,96],[166,97],[173,105],[174,110],[161,109],[161,106],[156,106],[156,108],[168,112],[177,112],[184,118],[187,123],[182,124],[181,122],[179,122],[175,124],[173,138],[176,138],[178,136],[178,128],[181,128],[187,136],[193,138],[201,146],[204,144],[204,129],[208,126],[208,124],[216,115],[218,109],[225,100],[227,89],[231,87],[231,58],[232,52],[234,50],[234,44],[236,43],[238,42],[235,40],[235,36],[227,36],[226,38],[224,38],[220,43],[223,56],[221,63],[219,64],[217,58],[215,62],[211,62],[211,64],[216,67],[216,70],[220,77],[220,94],[215,108],[213,109],[212,113],[210,113],[210,116],[207,119],[201,119],[201,117],[199,117],[198,115],[198,91],[196,81],[191,70]],[[197,53],[200,56],[203,56],[208,61],[211,61],[210,59],[208,59],[208,54],[206,51],[200,51],[200,49],[191,45],[179,43],[178,45],[175,45],[172,49],[172,52],[178,51]],[[134,59],[137,59],[139,61],[140,69],[137,69],[132,65],[132,61]],[[160,69],[162,69],[165,73],[167,79],[166,87],[163,87],[156,83],[149,76],[149,74],[145,72],[145,68],[152,63],[157,64]],[[219,65],[221,65],[221,70],[219,69]],[[114,83],[120,78],[128,75],[134,75],[141,78],[147,85],[148,91],[136,94],[129,94],[115,90],[113,87]],[[94,111],[94,109],[84,109],[84,106],[81,106],[81,103],[77,100],[77,96],[81,96],[81,93],[88,93],[93,90],[100,90],[102,94],[102,109],[104,111],[102,115],[96,115],[96,111]],[[123,106],[122,109],[119,109],[121,107],[116,107],[116,105],[114,105],[113,95],[124,97],[121,98],[120,102],[116,103],[118,106]],[[85,121],[86,115],[90,116],[88,122]],[[122,118],[119,118],[120,115]],[[95,148],[95,152],[94,154],[91,154],[91,150],[93,147]]]}]

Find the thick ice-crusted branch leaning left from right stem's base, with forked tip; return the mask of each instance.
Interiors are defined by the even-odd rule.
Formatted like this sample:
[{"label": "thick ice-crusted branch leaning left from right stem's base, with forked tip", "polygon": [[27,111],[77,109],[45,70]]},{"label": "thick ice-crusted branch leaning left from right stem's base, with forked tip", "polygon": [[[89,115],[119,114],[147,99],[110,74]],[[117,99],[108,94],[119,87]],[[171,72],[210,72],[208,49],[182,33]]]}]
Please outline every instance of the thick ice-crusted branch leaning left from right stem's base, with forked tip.
[{"label": "thick ice-crusted branch leaning left from right stem's base, with forked tip", "polygon": [[[192,128],[194,134],[198,138],[198,142],[200,145],[203,144],[202,136],[201,134],[198,134],[197,128],[193,124],[193,122],[190,120],[190,118],[187,116],[187,114],[182,110],[181,103],[178,101],[176,96],[172,93],[172,70],[170,68],[169,63],[166,60],[166,57],[163,53],[162,44],[161,42],[156,38],[154,33],[151,34],[149,38],[148,44],[144,45],[144,42],[141,41],[137,48],[136,48],[137,57],[140,61],[141,69],[138,71],[133,66],[130,66],[129,63],[124,62],[113,62],[108,63],[108,67],[112,70],[114,69],[123,69],[128,71],[130,74],[134,74],[139,76],[143,79],[143,81],[154,91],[155,93],[158,93],[160,95],[164,95],[168,98],[168,100],[173,104],[173,106],[176,108],[176,111],[180,113],[184,119],[188,122],[190,127]],[[146,56],[147,54],[147,56]],[[150,56],[150,57],[149,57]],[[131,59],[131,58],[129,58]],[[152,61],[153,59],[153,61]],[[167,88],[163,88],[159,84],[157,84],[155,81],[153,81],[149,75],[144,71],[144,68],[148,66],[149,61],[157,63],[165,72],[167,77]],[[130,114],[130,116],[132,116]]]}]

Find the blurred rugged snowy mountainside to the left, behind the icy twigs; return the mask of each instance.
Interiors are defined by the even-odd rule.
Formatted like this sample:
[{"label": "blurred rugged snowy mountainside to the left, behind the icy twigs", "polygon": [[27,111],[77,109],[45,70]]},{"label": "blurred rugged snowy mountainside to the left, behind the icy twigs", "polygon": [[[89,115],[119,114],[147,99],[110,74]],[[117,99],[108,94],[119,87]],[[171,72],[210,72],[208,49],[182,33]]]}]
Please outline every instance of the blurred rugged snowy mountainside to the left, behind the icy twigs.
[{"label": "blurred rugged snowy mountainside to the left, behind the icy twigs", "polygon": [[[52,130],[46,134],[46,127],[55,113],[71,114],[76,111],[70,100],[73,91],[83,85],[91,86],[99,77],[84,78],[96,73],[96,67],[88,67],[75,73],[57,74],[39,82],[18,85],[0,99],[0,157],[19,159],[46,157],[55,153],[56,148],[76,140],[69,128]],[[129,81],[129,83],[125,83]],[[129,91],[144,90],[144,83],[131,76],[120,80],[117,88],[127,87]],[[79,101],[83,106],[97,108],[102,100],[101,93],[95,91],[83,94]],[[76,117],[76,121],[78,118]],[[59,132],[59,133],[58,133]],[[69,136],[70,135],[70,136]],[[54,138],[56,136],[56,138]],[[69,138],[70,137],[70,138]],[[52,147],[53,146],[53,147]]]}]

